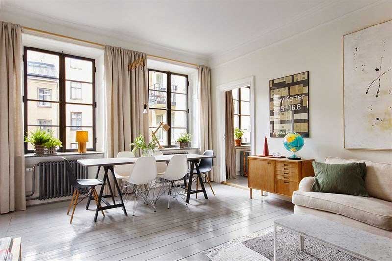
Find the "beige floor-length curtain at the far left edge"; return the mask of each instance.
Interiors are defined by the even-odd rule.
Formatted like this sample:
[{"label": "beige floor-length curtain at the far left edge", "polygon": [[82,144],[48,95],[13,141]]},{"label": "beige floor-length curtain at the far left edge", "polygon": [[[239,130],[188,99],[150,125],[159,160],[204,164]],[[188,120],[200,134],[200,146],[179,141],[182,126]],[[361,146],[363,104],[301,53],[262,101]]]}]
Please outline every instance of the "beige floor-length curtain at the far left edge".
[{"label": "beige floor-length curtain at the far left edge", "polygon": [[0,21],[0,213],[26,209],[21,26]]}]

